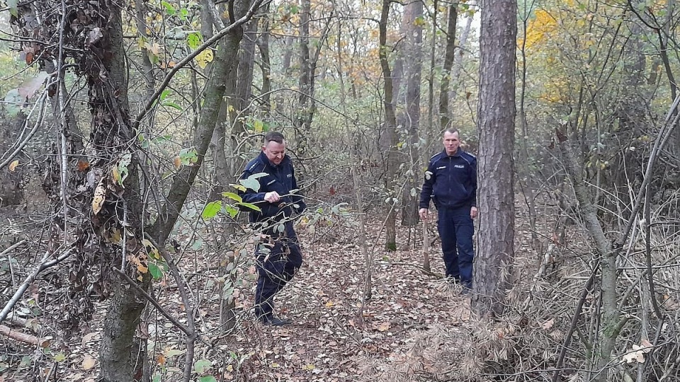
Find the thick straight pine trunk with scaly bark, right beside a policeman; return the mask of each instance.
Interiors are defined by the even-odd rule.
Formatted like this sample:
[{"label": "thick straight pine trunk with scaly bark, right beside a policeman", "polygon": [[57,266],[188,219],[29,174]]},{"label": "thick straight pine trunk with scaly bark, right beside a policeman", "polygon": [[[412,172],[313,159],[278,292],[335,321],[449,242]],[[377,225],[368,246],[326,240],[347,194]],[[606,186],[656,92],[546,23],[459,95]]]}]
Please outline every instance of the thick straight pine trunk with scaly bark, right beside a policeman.
[{"label": "thick straight pine trunk with scaly bark, right beside a policeman", "polygon": [[472,306],[502,312],[514,258],[515,0],[482,1],[477,234]]}]

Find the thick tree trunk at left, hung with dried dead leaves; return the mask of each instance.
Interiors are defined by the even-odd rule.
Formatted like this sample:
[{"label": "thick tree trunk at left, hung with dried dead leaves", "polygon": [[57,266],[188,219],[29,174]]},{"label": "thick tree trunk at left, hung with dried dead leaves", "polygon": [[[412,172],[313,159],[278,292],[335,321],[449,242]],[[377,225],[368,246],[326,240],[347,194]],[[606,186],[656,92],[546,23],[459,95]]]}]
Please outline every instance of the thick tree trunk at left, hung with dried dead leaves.
[{"label": "thick tree trunk at left, hung with dried dead leaves", "polygon": [[[118,141],[128,141],[130,137],[130,119],[128,115],[128,78],[125,65],[125,48],[123,47],[123,21],[120,13],[121,7],[118,4],[111,4],[111,8],[103,11],[109,12],[108,25],[106,30],[108,35],[103,40],[110,42],[110,60],[106,61],[106,54],[102,54],[103,63],[108,71],[108,81],[100,82],[99,79],[90,81],[90,105],[93,112],[93,137],[95,149],[100,158],[108,160],[94,161],[96,166],[103,168],[103,174],[108,174],[111,161],[118,159],[120,154],[116,146],[112,143]],[[102,44],[106,47],[106,42]],[[91,76],[101,78],[101,74],[91,72]],[[115,94],[115,96],[113,96]],[[104,112],[106,115],[99,113]],[[97,113],[97,114],[96,114]],[[111,134],[115,137],[110,141]],[[132,154],[132,153],[130,153]],[[141,234],[140,223],[142,221],[142,206],[140,198],[140,180],[137,171],[137,161],[132,157],[128,165],[129,175],[125,180],[125,207],[127,218],[123,218],[123,224],[128,225],[129,229],[137,235]],[[105,175],[106,176],[106,175]],[[104,179],[102,179],[104,181]],[[125,207],[123,207],[125,209]],[[104,214],[104,212],[101,212]],[[109,211],[108,214],[111,214]],[[115,212],[113,212],[115,216]],[[101,216],[102,218],[105,216]],[[127,220],[127,221],[125,221]],[[142,238],[137,236],[136,241],[140,243]],[[105,239],[100,240],[101,248],[106,248]],[[137,250],[139,245],[132,245]],[[116,250],[118,252],[118,250]],[[106,253],[106,251],[105,251]],[[133,253],[134,255],[135,253]],[[117,256],[122,256],[116,253]],[[113,260],[113,267],[118,267],[120,263],[125,264],[125,260]],[[130,274],[131,279],[137,279],[137,270],[128,266],[123,272]],[[107,270],[113,273],[113,270]],[[138,287],[147,289],[149,286],[149,275],[142,277],[142,282],[138,282]],[[135,340],[135,330],[140,322],[140,316],[145,307],[145,301],[132,291],[128,282],[121,279],[118,274],[112,277],[112,297],[111,304],[106,313],[103,325],[103,335],[100,347],[101,378],[103,381],[123,382],[139,381],[142,377],[143,359],[146,349],[140,346],[140,341]]]}]

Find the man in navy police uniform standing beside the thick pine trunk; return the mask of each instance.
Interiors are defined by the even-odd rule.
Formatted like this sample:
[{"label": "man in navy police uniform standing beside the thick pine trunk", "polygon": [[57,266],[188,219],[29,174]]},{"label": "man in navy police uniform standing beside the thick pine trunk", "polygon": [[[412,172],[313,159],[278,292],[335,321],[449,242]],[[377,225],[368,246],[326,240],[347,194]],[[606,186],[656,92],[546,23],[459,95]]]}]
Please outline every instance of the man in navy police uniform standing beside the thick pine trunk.
[{"label": "man in navy police uniform standing beside the thick pine trunk", "polygon": [[477,217],[477,158],[460,149],[457,129],[446,129],[444,150],[430,158],[420,193],[420,219],[427,220],[430,199],[438,214],[441,250],[446,277],[463,285],[463,293],[472,288],[472,258],[475,250],[472,235]]}]

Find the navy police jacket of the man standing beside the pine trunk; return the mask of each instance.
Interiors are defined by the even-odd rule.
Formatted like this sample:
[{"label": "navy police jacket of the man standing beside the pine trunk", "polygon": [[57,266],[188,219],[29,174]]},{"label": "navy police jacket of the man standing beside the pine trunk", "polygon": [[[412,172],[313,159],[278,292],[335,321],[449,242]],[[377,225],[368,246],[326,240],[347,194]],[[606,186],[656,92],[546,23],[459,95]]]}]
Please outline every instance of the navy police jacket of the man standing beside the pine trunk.
[{"label": "navy police jacket of the man standing beside the pine trunk", "polygon": [[420,208],[430,199],[437,209],[477,207],[477,158],[458,148],[455,155],[446,150],[430,158],[420,193]]}]

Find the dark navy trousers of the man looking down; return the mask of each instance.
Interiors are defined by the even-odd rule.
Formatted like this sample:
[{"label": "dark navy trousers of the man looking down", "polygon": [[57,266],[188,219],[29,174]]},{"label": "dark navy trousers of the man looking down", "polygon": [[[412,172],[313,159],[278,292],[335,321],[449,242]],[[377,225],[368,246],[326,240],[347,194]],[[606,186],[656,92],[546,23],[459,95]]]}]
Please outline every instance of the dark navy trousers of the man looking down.
[{"label": "dark navy trousers of the man looking down", "polygon": [[[302,252],[293,229],[293,222],[285,223],[285,234],[273,236],[273,246],[256,249],[257,286],[255,287],[255,317],[273,317],[274,295],[293,279],[302,266]],[[276,237],[278,236],[278,237]]]}]

